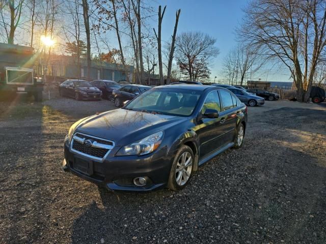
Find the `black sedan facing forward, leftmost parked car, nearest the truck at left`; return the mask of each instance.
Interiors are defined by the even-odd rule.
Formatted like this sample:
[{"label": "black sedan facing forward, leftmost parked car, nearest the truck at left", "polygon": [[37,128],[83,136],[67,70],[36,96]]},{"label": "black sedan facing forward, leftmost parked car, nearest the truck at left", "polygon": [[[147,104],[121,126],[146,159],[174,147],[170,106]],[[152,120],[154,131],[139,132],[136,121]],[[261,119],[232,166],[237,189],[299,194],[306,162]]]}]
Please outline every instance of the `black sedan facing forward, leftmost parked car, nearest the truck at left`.
[{"label": "black sedan facing forward, leftmost parked car, nearest the truck at left", "polygon": [[68,79],[60,84],[59,94],[76,100],[101,100],[101,90],[80,79]]}]

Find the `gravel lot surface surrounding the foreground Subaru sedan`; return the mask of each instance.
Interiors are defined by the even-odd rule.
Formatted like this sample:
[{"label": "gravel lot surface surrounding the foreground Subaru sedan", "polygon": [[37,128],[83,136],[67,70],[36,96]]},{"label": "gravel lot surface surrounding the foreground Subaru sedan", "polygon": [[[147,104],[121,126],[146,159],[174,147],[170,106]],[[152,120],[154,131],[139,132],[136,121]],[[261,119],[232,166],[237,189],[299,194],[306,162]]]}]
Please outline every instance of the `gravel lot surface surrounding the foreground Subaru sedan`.
[{"label": "gravel lot surface surrounding the foreground Subaru sedan", "polygon": [[249,108],[244,145],[181,192],[106,192],[61,169],[76,119],[109,101],[0,102],[0,243],[326,243],[326,107]]}]

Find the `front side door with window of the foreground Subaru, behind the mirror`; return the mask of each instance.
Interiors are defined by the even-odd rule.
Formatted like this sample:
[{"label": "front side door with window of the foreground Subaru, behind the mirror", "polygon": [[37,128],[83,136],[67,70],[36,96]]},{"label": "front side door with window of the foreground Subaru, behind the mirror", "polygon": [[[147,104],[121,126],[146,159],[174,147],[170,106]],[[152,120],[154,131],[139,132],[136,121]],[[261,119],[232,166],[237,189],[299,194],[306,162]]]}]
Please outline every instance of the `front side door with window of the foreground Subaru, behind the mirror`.
[{"label": "front side door with window of the foreground Subaru, behind the mirror", "polygon": [[217,90],[207,94],[200,112],[201,114],[199,115],[201,119],[198,121],[200,128],[197,133],[199,134],[200,141],[200,158],[205,157],[222,146],[221,139],[224,133],[222,117],[205,118],[203,115],[207,109],[221,112],[221,103]]}]

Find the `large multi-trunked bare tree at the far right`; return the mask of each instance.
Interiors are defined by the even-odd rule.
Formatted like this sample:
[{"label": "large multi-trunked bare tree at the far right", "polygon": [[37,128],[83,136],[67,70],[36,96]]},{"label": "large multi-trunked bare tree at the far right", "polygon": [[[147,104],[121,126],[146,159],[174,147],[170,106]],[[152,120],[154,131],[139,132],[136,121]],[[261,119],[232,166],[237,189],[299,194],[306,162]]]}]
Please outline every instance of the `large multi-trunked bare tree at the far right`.
[{"label": "large multi-trunked bare tree at the far right", "polygon": [[238,30],[267,59],[291,72],[298,101],[308,101],[316,67],[326,45],[323,0],[253,0]]}]

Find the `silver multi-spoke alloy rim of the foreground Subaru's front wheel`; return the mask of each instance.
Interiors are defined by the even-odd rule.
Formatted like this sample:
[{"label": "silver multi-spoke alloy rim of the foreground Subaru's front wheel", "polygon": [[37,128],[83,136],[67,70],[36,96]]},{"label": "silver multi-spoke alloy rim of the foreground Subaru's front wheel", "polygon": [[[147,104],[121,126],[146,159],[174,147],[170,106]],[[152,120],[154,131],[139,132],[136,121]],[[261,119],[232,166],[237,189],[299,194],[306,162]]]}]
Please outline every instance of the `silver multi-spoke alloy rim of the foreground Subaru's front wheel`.
[{"label": "silver multi-spoke alloy rim of the foreground Subaru's front wheel", "polygon": [[193,170],[193,157],[189,152],[184,152],[178,159],[175,179],[179,186],[184,185],[190,178]]}]

